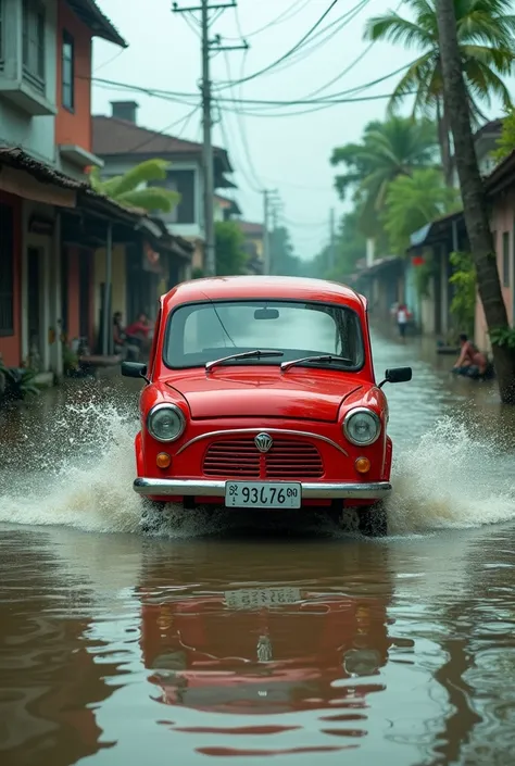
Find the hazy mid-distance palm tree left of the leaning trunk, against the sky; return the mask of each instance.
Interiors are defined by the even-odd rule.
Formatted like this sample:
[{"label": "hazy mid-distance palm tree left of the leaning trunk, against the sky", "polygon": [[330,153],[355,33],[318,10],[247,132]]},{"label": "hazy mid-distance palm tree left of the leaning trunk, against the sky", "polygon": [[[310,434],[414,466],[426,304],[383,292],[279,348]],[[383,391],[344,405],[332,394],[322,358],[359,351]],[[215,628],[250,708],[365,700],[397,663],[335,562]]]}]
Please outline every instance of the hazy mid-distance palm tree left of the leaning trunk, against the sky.
[{"label": "hazy mid-distance palm tree left of the leaning trunk, against the sky", "polygon": [[336,177],[340,197],[354,191],[360,210],[360,228],[369,238],[380,231],[380,214],[390,183],[419,167],[435,166],[438,137],[429,120],[393,116],[385,123],[369,123],[361,143],[347,143],[334,150],[332,165],[347,165]]}]

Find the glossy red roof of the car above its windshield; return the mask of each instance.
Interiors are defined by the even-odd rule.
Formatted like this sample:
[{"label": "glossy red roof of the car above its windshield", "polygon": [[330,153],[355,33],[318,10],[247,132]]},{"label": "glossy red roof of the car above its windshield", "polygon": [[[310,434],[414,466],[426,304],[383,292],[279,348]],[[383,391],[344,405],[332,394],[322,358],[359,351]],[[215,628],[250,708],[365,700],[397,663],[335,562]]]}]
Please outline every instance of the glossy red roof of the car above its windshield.
[{"label": "glossy red roof of the car above its windshield", "polygon": [[230,299],[291,299],[305,301],[341,301],[363,311],[366,299],[347,285],[307,277],[236,276],[192,279],[176,285],[163,297],[167,310],[177,303]]}]

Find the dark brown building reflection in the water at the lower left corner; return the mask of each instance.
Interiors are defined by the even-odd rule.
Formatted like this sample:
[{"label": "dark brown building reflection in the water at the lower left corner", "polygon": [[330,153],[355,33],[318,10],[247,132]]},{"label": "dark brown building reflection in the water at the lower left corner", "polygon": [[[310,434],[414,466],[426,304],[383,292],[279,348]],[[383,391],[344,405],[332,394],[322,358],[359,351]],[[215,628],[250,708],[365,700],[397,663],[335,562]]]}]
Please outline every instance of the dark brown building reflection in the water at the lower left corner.
[{"label": "dark brown building reflection in the water at the lower left corner", "polygon": [[13,766],[67,766],[113,744],[100,742],[95,706],[114,692],[109,678],[120,668],[98,661],[105,641],[88,638],[84,582],[56,578],[40,543],[4,532],[0,547],[0,759]]}]

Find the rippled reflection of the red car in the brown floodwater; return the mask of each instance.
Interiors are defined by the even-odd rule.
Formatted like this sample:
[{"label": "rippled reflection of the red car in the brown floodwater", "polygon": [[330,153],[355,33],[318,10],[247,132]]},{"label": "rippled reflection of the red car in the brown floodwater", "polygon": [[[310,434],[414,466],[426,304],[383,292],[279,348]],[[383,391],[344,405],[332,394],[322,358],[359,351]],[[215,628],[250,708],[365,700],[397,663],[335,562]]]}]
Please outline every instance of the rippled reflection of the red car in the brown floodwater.
[{"label": "rippled reflection of the red car in the brown floodwater", "polygon": [[[394,643],[380,599],[298,587],[183,598],[140,592],[140,645],[162,702],[260,715],[354,708],[384,689]],[[346,688],[343,679],[367,677]]]}]

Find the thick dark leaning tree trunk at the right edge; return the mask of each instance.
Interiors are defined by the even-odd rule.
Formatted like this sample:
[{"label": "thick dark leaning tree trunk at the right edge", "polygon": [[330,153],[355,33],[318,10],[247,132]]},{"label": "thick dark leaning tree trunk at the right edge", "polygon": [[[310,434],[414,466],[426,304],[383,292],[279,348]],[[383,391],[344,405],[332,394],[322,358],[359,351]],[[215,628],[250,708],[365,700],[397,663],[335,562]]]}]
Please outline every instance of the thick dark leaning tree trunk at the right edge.
[{"label": "thick dark leaning tree trunk at the right edge", "polygon": [[[454,156],[462,190],[465,225],[476,265],[479,297],[489,332],[492,330],[510,332],[490,231],[487,197],[474,148],[468,93],[462,73],[453,0],[437,0],[437,16],[445,112],[454,139]],[[501,400],[505,404],[515,404],[515,350],[510,349],[508,346],[492,342],[492,352]]]}]

